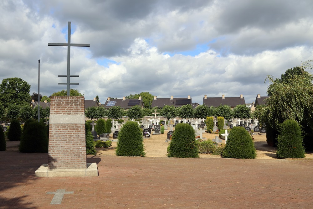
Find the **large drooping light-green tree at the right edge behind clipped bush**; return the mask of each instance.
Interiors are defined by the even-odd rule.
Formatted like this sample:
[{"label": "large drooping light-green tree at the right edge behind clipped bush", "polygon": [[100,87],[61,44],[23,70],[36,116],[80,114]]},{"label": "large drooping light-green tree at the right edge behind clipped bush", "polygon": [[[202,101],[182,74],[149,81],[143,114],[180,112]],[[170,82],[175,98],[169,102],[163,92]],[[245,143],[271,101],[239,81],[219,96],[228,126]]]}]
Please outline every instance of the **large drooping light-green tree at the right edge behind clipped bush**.
[{"label": "large drooping light-green tree at the right edge behind clipped bush", "polygon": [[313,149],[313,76],[304,67],[288,69],[281,79],[272,76],[267,78],[271,84],[267,94],[264,112],[266,114],[266,133],[269,145],[277,143],[280,123],[293,119],[297,121],[306,133],[304,138],[307,150]]}]

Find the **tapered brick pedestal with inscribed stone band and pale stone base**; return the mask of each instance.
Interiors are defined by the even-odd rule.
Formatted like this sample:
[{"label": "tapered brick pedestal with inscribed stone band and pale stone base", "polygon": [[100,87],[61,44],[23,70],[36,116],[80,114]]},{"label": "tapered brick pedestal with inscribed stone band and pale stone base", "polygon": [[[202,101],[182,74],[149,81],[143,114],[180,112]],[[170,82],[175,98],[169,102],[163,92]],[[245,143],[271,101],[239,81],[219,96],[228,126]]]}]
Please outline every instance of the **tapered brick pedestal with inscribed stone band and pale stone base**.
[{"label": "tapered brick pedestal with inscribed stone band and pale stone base", "polygon": [[84,97],[51,97],[48,153],[36,177],[98,176],[96,163],[86,163]]}]

